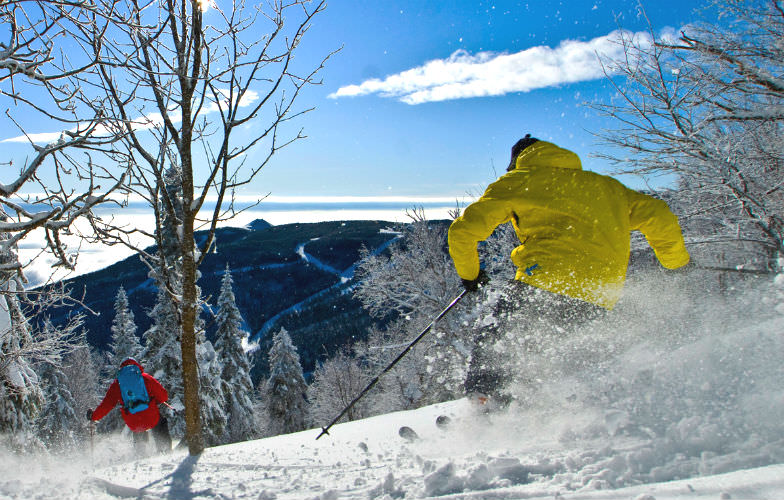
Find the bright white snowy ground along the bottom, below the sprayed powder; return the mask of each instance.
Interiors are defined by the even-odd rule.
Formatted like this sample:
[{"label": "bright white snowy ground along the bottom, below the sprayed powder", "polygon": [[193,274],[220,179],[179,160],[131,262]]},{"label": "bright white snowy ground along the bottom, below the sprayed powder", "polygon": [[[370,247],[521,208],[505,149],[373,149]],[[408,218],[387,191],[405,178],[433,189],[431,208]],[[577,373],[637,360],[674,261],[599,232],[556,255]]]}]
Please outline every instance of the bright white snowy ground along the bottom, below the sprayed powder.
[{"label": "bright white snowy ground along the bottom, below the sprayed powder", "polygon": [[[436,426],[439,415],[452,418],[446,430]],[[0,479],[0,498],[784,498],[784,465],[612,489],[612,477],[665,454],[628,436],[557,439],[584,417],[542,420],[515,411],[487,417],[460,400],[338,425],[318,441],[318,430],[309,430],[211,448],[198,458],[174,453],[94,472],[88,461],[50,463],[45,474],[38,473],[40,463],[27,464],[25,474]],[[419,439],[401,438],[403,425]],[[751,453],[746,463],[737,459],[738,467],[755,465]],[[88,476],[139,491],[109,494]]]}]

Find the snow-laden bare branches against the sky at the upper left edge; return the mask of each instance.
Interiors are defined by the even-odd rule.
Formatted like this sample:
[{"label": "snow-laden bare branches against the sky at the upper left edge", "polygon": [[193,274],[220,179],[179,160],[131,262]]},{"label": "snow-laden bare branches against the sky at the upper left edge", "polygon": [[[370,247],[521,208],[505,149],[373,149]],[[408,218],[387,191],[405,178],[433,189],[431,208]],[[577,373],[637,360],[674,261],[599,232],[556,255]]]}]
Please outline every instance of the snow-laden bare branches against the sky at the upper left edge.
[{"label": "snow-laden bare branches against the sky at the upper left edge", "polygon": [[[56,265],[72,269],[77,254],[69,251],[62,235],[70,233],[77,219],[90,217],[96,206],[109,201],[124,180],[110,178],[93,161],[91,151],[116,137],[107,133],[99,112],[77,106],[73,86],[73,78],[86,78],[97,60],[69,50],[78,46],[70,38],[85,23],[93,23],[97,32],[105,31],[112,22],[113,5],[104,7],[106,11],[57,0],[0,4],[0,103],[19,130],[17,137],[4,142],[28,148],[24,158],[0,158],[0,165],[8,167],[3,171],[11,173],[0,182],[0,232],[9,235],[2,242],[2,253],[42,230]],[[28,115],[54,131],[30,133],[24,118]],[[22,264],[2,266],[21,270]]]}]

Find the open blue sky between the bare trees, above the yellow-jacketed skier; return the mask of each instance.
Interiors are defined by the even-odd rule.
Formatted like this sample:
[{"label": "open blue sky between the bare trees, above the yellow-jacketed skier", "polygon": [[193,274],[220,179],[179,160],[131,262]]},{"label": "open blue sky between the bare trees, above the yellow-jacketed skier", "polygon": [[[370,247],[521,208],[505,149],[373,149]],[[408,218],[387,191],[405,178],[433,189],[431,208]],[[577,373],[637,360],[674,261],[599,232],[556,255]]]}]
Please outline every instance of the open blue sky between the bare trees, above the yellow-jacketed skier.
[{"label": "open blue sky between the bare trees, above the yellow-jacketed skier", "polygon": [[[699,6],[690,0],[644,5],[657,30],[693,22]],[[583,104],[608,99],[611,91],[582,65],[594,53],[591,40],[619,27],[645,30],[639,13],[636,2],[617,0],[334,0],[303,47],[309,57],[342,46],[322,74],[323,86],[306,95],[316,106],[302,121],[309,137],[281,153],[254,189],[282,196],[481,193],[526,132],[573,149],[585,168],[606,172],[606,164],[590,158],[599,148],[590,132],[607,124]],[[576,43],[564,48],[569,41]],[[557,59],[566,51],[579,60],[549,78],[535,66],[526,74],[538,56]],[[422,80],[443,78],[448,88],[460,75],[450,62],[461,61],[463,71],[473,67],[487,78],[463,82],[473,90],[458,88],[448,99],[422,96],[432,90]],[[416,84],[425,92],[401,92]]]}]

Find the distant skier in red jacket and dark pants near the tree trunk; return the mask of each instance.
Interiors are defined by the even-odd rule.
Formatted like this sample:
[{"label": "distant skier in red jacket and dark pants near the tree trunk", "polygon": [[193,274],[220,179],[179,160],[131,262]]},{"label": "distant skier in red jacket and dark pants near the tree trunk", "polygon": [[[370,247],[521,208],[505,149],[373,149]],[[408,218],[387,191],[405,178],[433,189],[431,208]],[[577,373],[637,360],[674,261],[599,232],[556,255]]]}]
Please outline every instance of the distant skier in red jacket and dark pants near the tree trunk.
[{"label": "distant skier in red jacket and dark pants near the tree trunk", "polygon": [[125,425],[133,431],[134,448],[140,451],[146,447],[148,441],[147,431],[152,429],[155,439],[155,447],[158,452],[171,451],[171,436],[169,435],[169,424],[166,417],[161,415],[158,410],[158,403],[165,403],[169,399],[169,394],[152,375],[144,372],[142,365],[133,358],[127,358],[120,364],[120,369],[128,365],[136,365],[144,379],[144,387],[147,389],[149,398],[147,407],[135,413],[128,411],[123,404],[123,397],[120,392],[120,383],[115,378],[106,391],[103,401],[92,411],[87,411],[87,417],[92,421],[101,420],[118,403]]}]

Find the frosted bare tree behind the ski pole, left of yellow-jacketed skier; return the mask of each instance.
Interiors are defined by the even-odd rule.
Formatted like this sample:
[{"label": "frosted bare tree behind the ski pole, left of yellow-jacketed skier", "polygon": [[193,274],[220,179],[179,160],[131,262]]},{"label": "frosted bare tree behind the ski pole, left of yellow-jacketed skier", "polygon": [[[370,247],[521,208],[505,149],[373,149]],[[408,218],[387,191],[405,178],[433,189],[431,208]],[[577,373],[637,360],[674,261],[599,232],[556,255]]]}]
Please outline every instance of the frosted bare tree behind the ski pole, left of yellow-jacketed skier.
[{"label": "frosted bare tree behind the ski pole, left of yellow-jacketed skier", "polygon": [[[421,209],[409,216],[411,222],[401,226],[401,237],[388,252],[365,252],[357,266],[354,296],[363,307],[378,317],[398,315],[385,331],[372,332],[366,345],[355,346],[372,370],[380,371],[391,362],[462,290],[447,251],[448,225],[428,221]],[[413,408],[459,392],[470,351],[464,324],[470,309],[469,300],[464,300],[406,355],[380,387],[391,393],[380,407]]]}]

